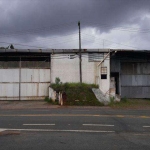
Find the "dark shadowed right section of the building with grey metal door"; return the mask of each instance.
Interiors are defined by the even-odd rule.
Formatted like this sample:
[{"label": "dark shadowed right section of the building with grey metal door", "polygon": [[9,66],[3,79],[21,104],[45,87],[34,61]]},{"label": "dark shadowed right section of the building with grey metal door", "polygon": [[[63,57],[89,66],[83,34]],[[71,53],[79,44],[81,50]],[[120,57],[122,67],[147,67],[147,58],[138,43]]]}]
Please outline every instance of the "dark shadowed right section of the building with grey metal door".
[{"label": "dark shadowed right section of the building with grey metal door", "polygon": [[113,51],[110,68],[116,94],[122,98],[150,98],[150,51]]}]

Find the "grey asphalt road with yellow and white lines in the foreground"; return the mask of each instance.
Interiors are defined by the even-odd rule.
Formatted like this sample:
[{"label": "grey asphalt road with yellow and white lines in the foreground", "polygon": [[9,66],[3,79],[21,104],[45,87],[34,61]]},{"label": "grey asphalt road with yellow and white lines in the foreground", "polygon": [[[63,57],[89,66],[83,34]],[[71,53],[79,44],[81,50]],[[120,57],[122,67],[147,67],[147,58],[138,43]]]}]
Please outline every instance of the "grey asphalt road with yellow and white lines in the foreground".
[{"label": "grey asphalt road with yellow and white lines in the foreground", "polygon": [[150,149],[150,110],[0,110],[0,150]]}]

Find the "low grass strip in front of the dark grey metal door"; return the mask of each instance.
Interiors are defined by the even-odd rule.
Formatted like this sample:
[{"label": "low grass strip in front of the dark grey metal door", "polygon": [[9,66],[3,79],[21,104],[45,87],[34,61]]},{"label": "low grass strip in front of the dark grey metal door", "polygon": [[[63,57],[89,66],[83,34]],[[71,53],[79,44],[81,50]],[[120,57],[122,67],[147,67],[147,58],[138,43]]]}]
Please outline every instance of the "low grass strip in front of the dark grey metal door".
[{"label": "low grass strip in front of the dark grey metal door", "polygon": [[110,102],[112,108],[129,108],[129,109],[140,109],[150,108],[150,99],[127,99],[122,98],[120,102]]}]

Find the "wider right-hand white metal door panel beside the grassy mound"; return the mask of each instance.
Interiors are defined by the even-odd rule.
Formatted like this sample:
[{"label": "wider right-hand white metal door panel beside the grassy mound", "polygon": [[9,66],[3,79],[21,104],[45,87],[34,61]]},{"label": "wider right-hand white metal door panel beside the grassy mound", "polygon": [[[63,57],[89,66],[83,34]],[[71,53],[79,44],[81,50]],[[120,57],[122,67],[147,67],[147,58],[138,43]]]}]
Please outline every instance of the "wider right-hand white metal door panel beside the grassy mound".
[{"label": "wider right-hand white metal door panel beside the grassy mound", "polygon": [[21,99],[44,99],[50,85],[49,69],[21,69]]}]

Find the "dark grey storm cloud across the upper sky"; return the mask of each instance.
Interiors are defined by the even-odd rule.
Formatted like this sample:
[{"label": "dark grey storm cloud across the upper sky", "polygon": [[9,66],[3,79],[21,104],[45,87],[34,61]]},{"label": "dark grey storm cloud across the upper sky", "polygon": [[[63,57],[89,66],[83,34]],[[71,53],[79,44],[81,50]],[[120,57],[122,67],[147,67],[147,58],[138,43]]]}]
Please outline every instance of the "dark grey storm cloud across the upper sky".
[{"label": "dark grey storm cloud across the upper sky", "polygon": [[[0,37],[30,41],[96,27],[108,32],[138,23],[150,12],[150,0],[1,0]],[[144,26],[144,25],[143,25]]]}]

